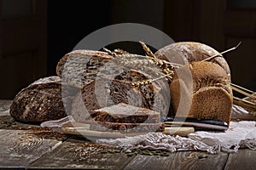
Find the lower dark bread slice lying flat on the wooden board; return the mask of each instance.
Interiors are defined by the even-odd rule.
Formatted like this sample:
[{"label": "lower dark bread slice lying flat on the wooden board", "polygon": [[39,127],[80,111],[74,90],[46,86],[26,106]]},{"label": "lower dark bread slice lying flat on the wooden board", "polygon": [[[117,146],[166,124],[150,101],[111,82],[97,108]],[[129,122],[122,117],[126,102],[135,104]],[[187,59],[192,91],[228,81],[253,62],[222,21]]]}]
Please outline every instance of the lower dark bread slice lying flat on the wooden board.
[{"label": "lower dark bread slice lying flat on the wooden board", "polygon": [[118,133],[150,133],[164,132],[164,123],[118,123],[118,122],[93,122],[90,130]]}]

